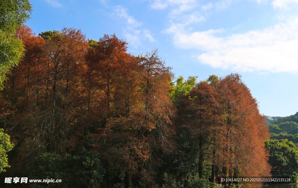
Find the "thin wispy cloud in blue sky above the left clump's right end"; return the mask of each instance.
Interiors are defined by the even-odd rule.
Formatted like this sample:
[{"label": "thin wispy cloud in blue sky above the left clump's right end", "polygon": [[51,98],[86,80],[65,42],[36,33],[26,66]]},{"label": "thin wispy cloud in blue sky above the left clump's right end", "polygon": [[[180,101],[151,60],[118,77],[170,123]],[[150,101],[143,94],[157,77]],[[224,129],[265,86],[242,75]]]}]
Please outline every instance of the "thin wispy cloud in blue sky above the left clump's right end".
[{"label": "thin wispy cloud in blue sky above the left clump's right end", "polygon": [[122,23],[125,23],[123,35],[129,45],[136,48],[141,45],[143,40],[155,42],[150,31],[148,29],[141,29],[140,26],[142,26],[142,22],[137,21],[133,16],[129,15],[126,8],[117,6],[114,15],[116,15]]}]

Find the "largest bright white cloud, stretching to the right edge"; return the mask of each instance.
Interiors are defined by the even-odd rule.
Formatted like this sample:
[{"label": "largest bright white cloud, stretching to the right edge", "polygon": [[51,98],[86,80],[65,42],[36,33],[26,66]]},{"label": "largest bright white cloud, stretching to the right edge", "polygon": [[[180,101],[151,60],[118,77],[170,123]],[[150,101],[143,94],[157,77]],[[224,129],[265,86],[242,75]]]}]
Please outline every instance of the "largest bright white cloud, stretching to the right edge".
[{"label": "largest bright white cloud, stretching to the right edge", "polygon": [[202,63],[235,71],[298,72],[298,17],[262,30],[220,37],[224,29],[187,33],[167,29],[179,48],[200,50]]}]

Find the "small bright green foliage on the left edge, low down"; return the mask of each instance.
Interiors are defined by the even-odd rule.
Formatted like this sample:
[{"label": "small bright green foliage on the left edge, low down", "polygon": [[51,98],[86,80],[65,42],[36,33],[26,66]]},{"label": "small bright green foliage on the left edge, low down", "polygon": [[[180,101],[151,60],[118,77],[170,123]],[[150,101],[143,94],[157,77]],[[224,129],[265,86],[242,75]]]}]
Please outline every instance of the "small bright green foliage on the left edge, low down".
[{"label": "small bright green foliage on the left edge, low down", "polygon": [[0,173],[5,172],[8,165],[7,152],[13,149],[13,145],[10,143],[10,136],[0,129]]}]

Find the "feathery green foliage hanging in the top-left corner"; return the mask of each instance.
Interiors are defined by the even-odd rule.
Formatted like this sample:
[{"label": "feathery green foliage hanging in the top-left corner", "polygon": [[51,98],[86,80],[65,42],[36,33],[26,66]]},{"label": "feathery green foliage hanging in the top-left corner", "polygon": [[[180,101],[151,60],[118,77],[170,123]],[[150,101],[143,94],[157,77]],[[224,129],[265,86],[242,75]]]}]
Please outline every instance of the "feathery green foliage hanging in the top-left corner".
[{"label": "feathery green foliage hanging in the top-left corner", "polygon": [[24,55],[22,41],[15,38],[15,28],[20,27],[31,14],[29,0],[0,1],[0,89],[5,74]]}]

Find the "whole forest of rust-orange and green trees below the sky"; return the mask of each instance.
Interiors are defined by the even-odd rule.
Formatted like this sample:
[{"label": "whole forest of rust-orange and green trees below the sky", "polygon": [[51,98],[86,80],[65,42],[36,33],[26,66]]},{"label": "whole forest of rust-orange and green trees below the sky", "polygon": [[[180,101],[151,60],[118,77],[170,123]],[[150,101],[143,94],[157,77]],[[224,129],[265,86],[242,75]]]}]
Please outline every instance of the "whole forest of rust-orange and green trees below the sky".
[{"label": "whole forest of rust-orange and green trees below the sky", "polygon": [[1,187],[16,176],[62,179],[22,187],[221,187],[218,177],[271,176],[271,165],[297,172],[274,166],[269,148],[297,151],[297,121],[278,119],[267,140],[239,74],[175,77],[157,49],[131,55],[115,34],[24,25],[15,37],[26,51],[0,91]]}]

